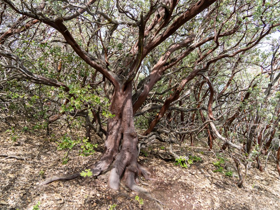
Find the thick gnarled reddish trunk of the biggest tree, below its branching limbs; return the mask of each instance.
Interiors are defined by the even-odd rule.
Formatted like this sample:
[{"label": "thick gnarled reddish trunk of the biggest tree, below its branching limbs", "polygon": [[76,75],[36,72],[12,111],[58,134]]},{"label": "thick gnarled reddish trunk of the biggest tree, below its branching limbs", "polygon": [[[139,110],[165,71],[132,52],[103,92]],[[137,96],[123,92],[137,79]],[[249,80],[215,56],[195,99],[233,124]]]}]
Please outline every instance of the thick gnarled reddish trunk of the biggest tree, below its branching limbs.
[{"label": "thick gnarled reddish trunk of the biggest tree, below its branching limbs", "polygon": [[[133,121],[131,82],[119,91],[114,91],[109,110],[114,117],[108,120],[104,152],[101,159],[94,164],[91,172],[93,172],[93,176],[98,176],[112,166],[108,182],[110,188],[118,189],[123,177],[130,189],[141,191],[141,188],[137,186],[138,175],[142,174],[148,180],[153,179],[149,177],[150,173],[137,163],[138,138]],[[48,184],[54,180],[73,179],[78,176],[79,173],[53,176],[42,184]]]}]

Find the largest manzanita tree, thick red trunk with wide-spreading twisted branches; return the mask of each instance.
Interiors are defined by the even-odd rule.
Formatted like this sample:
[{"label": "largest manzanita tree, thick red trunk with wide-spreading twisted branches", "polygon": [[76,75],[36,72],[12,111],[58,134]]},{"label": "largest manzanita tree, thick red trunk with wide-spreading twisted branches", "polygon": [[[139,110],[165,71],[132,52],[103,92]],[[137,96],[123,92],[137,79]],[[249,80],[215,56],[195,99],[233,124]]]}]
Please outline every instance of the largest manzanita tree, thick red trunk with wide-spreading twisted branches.
[{"label": "largest manzanita tree, thick red trunk with wide-spreading twisted branches", "polygon": [[[275,16],[279,1],[2,0],[1,10],[0,84],[3,91],[10,91],[6,94],[9,100],[19,97],[11,92],[24,88],[32,89],[32,94],[38,91],[32,85],[39,84],[40,97],[41,92],[48,92],[44,96],[47,103],[60,107],[51,116],[45,111],[47,124],[64,114],[84,117],[87,137],[94,130],[105,140],[103,155],[91,169],[93,176],[111,168],[109,187],[118,189],[122,178],[136,191],[141,190],[138,175],[151,179],[137,162],[140,149],[155,139],[177,141],[164,140],[161,133],[174,132],[183,141],[186,134],[192,138],[194,132],[206,129],[210,149],[218,138],[226,146],[242,150],[228,131],[243,107],[225,120],[226,137],[215,121],[221,118],[228,98],[239,100],[231,85],[240,66],[246,62],[255,65],[247,58],[256,56],[256,47],[280,26]],[[225,77],[228,69],[230,77],[224,78],[223,85],[225,80],[216,78]],[[240,92],[246,93],[250,87]],[[190,99],[198,103],[186,109],[186,99],[193,91]],[[103,110],[107,128],[100,119],[102,103],[109,106]],[[156,109],[159,111],[154,113]],[[148,127],[137,133],[134,118],[144,113],[151,114]],[[165,115],[168,130],[160,128]],[[181,130],[173,120],[181,122]],[[43,184],[79,175],[53,176]]]}]

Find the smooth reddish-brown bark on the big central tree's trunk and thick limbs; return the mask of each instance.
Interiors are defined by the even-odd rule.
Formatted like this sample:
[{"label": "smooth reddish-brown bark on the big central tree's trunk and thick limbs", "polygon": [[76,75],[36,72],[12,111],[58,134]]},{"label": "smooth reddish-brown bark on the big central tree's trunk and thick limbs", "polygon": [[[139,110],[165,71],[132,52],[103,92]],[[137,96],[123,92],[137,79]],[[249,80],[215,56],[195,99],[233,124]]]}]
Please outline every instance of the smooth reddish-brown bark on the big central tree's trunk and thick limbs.
[{"label": "smooth reddish-brown bark on the big central tree's trunk and thick limbs", "polygon": [[[89,1],[86,6],[90,6],[90,4],[94,3],[96,0]],[[9,1],[5,1],[8,2]],[[143,102],[146,100],[150,90],[153,88],[154,84],[160,80],[162,77],[162,73],[166,70],[177,64],[179,61],[182,60],[182,58],[186,57],[190,52],[192,52],[196,47],[201,46],[202,44],[214,40],[217,43],[217,46],[215,46],[213,49],[209,50],[204,57],[209,55],[211,52],[213,52],[218,47],[218,37],[227,36],[230,34],[233,34],[236,29],[228,31],[224,34],[216,34],[213,37],[205,38],[201,42],[197,43],[196,45],[187,48],[188,45],[190,45],[195,38],[195,34],[191,34],[188,38],[183,40],[180,43],[175,43],[172,45],[169,49],[167,49],[166,53],[162,56],[162,58],[159,59],[158,63],[154,66],[152,73],[150,74],[150,80],[145,85],[145,88],[143,92],[141,93],[140,97],[138,97],[138,100],[136,102],[132,103],[132,82],[131,80],[134,78],[134,74],[137,73],[138,68],[141,65],[141,61],[143,57],[145,57],[148,53],[151,52],[156,46],[158,46],[160,43],[162,43],[164,40],[166,40],[170,35],[174,34],[176,30],[178,30],[181,26],[183,26],[187,21],[189,21],[191,18],[194,18],[197,14],[199,14],[202,10],[210,6],[215,2],[215,0],[199,0],[198,2],[192,4],[188,10],[183,12],[177,19],[174,20],[174,22],[170,23],[170,19],[172,17],[173,10],[175,6],[178,4],[179,1],[177,0],[164,0],[163,1],[165,5],[158,8],[154,19],[152,20],[150,26],[145,30],[145,24],[149,20],[149,14],[146,16],[146,19],[144,20],[141,16],[140,26],[139,26],[139,39],[138,42],[135,43],[134,48],[131,50],[133,56],[131,56],[128,61],[127,65],[131,64],[128,69],[128,73],[126,74],[125,71],[122,71],[122,75],[118,75],[116,73],[113,73],[114,70],[110,70],[107,61],[107,54],[105,52],[105,61],[106,66],[103,64],[100,64],[101,62],[97,62],[92,58],[88,53],[86,53],[75,41],[75,39],[72,37],[72,34],[67,30],[66,26],[63,22],[66,22],[67,20],[71,20],[73,18],[78,17],[79,14],[82,14],[85,12],[85,9],[78,9],[77,11],[74,11],[73,13],[69,13],[70,15],[65,17],[58,17],[54,20],[51,19],[43,19],[42,16],[38,16],[39,21],[42,21],[49,26],[54,27],[56,30],[58,30],[63,37],[65,38],[66,42],[74,49],[74,51],[78,54],[79,57],[81,57],[88,65],[95,68],[98,72],[100,72],[104,78],[106,77],[107,80],[109,80],[112,85],[114,86],[114,93],[112,92],[112,97],[110,97],[111,105],[110,105],[110,111],[115,115],[113,118],[110,118],[108,120],[108,126],[107,126],[107,135],[106,135],[106,141],[104,146],[104,153],[102,155],[102,158],[100,161],[98,161],[94,165],[94,169],[92,169],[92,172],[94,173],[94,176],[98,176],[102,171],[106,170],[110,165],[112,165],[110,177],[109,177],[109,186],[114,189],[119,188],[119,181],[121,177],[123,176],[123,179],[126,181],[126,184],[131,189],[137,189],[136,184],[138,183],[137,175],[141,173],[143,176],[148,177],[148,172],[141,166],[137,164],[137,134],[135,132],[134,123],[133,123],[133,116],[134,113],[137,111],[139,107],[143,104]],[[13,8],[13,5],[10,5],[11,8]],[[14,9],[14,8],[13,8]],[[121,10],[121,8],[118,8]],[[25,13],[25,11],[17,11],[18,13],[22,14],[29,14]],[[37,18],[37,15],[31,15],[32,18]],[[168,26],[168,24],[170,24]],[[275,27],[275,26],[274,26]],[[163,30],[166,28],[165,30]],[[222,30],[222,27],[221,27]],[[269,33],[269,30],[267,30]],[[143,33],[142,33],[143,32]],[[101,38],[101,37],[100,37]],[[102,42],[102,40],[100,40]],[[193,79],[197,73],[200,70],[205,70],[209,67],[209,65],[215,61],[218,61],[219,59],[225,58],[225,57],[233,57],[237,53],[244,52],[245,50],[250,49],[252,46],[257,44],[260,41],[257,40],[254,44],[251,46],[248,46],[246,48],[238,50],[236,53],[233,53],[231,55],[228,54],[220,54],[218,57],[215,57],[211,59],[206,65],[204,65],[203,69],[196,69],[188,77],[186,77],[180,84],[180,86],[177,88],[177,90],[174,92],[172,96],[170,96],[162,106],[162,109],[159,111],[158,115],[155,117],[155,119],[151,122],[150,127],[147,129],[146,132],[144,132],[142,135],[147,135],[150,133],[155,125],[158,123],[158,121],[164,116],[166,111],[168,110],[170,103],[177,100],[179,98],[180,93],[184,89],[186,83]],[[252,42],[253,43],[253,42]],[[106,51],[106,47],[102,43],[102,46],[104,50]],[[169,61],[170,55],[174,53],[177,50],[181,50],[183,48],[187,48],[183,50],[182,53],[176,57],[175,61]],[[138,54],[137,54],[138,53]],[[204,58],[204,57],[201,57]],[[167,62],[168,61],[168,62]],[[108,67],[108,69],[107,69]],[[118,69],[116,69],[116,72]],[[120,79],[122,78],[122,79]],[[123,82],[125,80],[125,82]],[[50,81],[48,81],[50,82]],[[231,80],[229,81],[229,83]],[[62,86],[61,84],[56,84],[59,86]],[[212,103],[213,103],[213,95],[214,95],[214,89],[211,86],[210,87],[210,81],[209,81],[209,88],[210,88],[210,98],[208,101],[208,118],[211,120],[214,120],[213,113],[212,113]],[[57,116],[59,117],[59,116]],[[169,116],[168,116],[169,117]],[[201,114],[202,119],[204,119],[203,115]],[[181,112],[181,121],[183,121],[183,114]],[[205,121],[205,119],[204,119]],[[214,129],[212,129],[214,131]],[[212,136],[211,136],[211,130],[207,128],[207,132],[209,134],[209,145],[212,148],[213,142],[212,142]],[[122,140],[122,141],[121,141]],[[121,144],[121,145],[120,145]],[[121,147],[120,147],[121,146]],[[74,176],[74,175],[73,175]],[[73,177],[71,176],[71,177]],[[76,175],[75,175],[76,176]],[[61,177],[60,177],[61,178]]]}]

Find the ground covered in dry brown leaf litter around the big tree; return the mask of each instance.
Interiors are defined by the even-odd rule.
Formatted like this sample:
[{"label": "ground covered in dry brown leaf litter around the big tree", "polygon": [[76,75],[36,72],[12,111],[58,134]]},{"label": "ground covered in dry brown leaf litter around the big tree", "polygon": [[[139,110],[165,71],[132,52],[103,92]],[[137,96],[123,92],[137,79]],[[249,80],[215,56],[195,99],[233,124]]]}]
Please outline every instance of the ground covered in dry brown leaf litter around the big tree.
[{"label": "ground covered in dry brown leaf litter around the big tree", "polygon": [[[11,131],[6,132],[7,129],[10,128],[5,125],[0,127],[0,209],[32,210],[38,202],[41,210],[158,209],[145,195],[124,188],[118,191],[108,188],[106,175],[97,179],[86,177],[40,185],[47,177],[90,168],[102,155],[100,139],[92,139],[93,143],[98,143],[94,155],[81,157],[78,148],[74,147],[68,163],[63,165],[65,151],[57,151],[56,141],[69,132],[65,127],[51,130],[51,136],[46,136],[43,131],[26,131],[15,136],[16,141],[11,140],[16,132],[10,135]],[[84,136],[82,131],[72,132]],[[220,159],[215,152],[206,149],[204,141],[196,142],[194,147],[187,143],[174,146],[174,151],[180,155],[201,158],[188,168],[159,158],[157,149],[164,152],[168,147],[168,144],[155,144],[143,149],[139,156],[140,164],[148,168],[156,180],[146,181],[149,186],[142,186],[164,204],[164,209],[280,209],[280,180],[273,158],[269,158],[265,172],[258,171],[254,162],[243,187],[238,188],[235,184],[238,178],[213,172],[217,169],[213,162]],[[25,160],[3,155],[24,157]],[[226,157],[225,160],[232,162]],[[264,164],[265,160],[262,162]],[[221,166],[225,167],[225,164]]]}]

